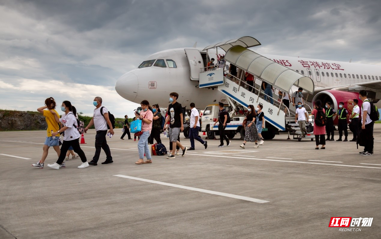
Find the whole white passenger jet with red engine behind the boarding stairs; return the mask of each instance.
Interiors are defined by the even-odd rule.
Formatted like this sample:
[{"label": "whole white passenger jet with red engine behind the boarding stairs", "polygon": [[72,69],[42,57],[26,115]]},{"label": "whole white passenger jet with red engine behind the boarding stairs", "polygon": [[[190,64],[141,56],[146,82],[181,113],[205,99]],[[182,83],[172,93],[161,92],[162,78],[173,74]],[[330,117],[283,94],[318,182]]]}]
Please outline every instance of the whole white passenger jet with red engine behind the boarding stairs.
[{"label": "whole white passenger jet with red engine behind the boarding stairs", "polygon": [[[194,46],[154,53],[147,57],[138,68],[122,75],[115,84],[115,90],[120,96],[132,102],[139,104],[142,100],[148,100],[150,104],[159,104],[160,107],[170,104],[169,94],[173,91],[179,94],[178,102],[183,107],[189,107],[189,104],[194,102],[197,108],[203,109],[209,104],[226,102],[226,94],[215,90],[215,87],[199,88],[197,76],[205,72],[207,62],[211,58],[215,58],[215,64],[217,64],[220,56],[224,56],[231,46],[245,45],[245,41],[255,41],[256,44],[253,46],[261,45],[255,38],[241,37],[223,43],[233,42],[231,44],[211,45],[220,46],[219,48],[210,46],[203,49]],[[333,103],[333,108],[337,110],[339,102],[344,102],[344,107],[351,112],[353,108],[351,101],[358,99],[358,92],[362,89],[368,92],[368,99],[371,99],[373,103],[376,104],[381,99],[381,66],[379,65],[270,54],[261,54],[261,56],[311,78],[314,92],[307,96],[307,103],[311,106],[312,102],[320,99],[323,104]],[[226,62],[225,71],[229,64],[231,62]],[[259,76],[254,76],[259,79]],[[289,92],[290,95],[297,88],[294,86]]]}]

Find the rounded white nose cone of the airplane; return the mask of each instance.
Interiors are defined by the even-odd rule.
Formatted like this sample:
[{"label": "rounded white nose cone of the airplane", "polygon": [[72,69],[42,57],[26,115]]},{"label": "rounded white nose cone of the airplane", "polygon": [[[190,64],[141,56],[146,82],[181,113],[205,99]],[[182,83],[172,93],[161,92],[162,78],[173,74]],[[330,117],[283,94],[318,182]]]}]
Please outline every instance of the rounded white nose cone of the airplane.
[{"label": "rounded white nose cone of the airplane", "polygon": [[131,72],[120,76],[115,83],[115,90],[126,100],[133,101],[138,94],[138,76]]}]

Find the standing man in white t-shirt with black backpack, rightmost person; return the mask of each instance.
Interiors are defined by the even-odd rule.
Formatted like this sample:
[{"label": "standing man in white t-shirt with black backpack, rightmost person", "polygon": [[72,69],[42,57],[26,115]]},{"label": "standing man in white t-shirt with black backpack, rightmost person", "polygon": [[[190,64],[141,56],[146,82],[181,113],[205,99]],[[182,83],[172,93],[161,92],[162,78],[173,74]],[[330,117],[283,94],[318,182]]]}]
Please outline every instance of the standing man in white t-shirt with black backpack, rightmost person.
[{"label": "standing man in white t-shirt with black backpack, rightmost person", "polygon": [[359,92],[359,99],[362,100],[361,106],[361,137],[364,139],[364,151],[360,152],[363,156],[373,155],[373,126],[375,122],[373,122],[368,113],[370,113],[370,102],[367,99],[368,93],[364,90]]}]

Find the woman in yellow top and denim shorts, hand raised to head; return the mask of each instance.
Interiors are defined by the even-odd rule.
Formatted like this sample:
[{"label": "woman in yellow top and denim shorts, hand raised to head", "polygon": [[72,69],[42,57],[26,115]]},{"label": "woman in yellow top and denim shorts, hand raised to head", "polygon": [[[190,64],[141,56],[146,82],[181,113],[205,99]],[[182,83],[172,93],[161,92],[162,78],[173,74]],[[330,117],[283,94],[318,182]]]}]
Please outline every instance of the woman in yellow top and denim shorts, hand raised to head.
[{"label": "woman in yellow top and denim shorts, hand raised to head", "polygon": [[[54,119],[54,115],[50,113],[49,111],[49,110],[54,111],[59,118],[59,114],[55,110],[56,105],[57,105],[56,101],[53,99],[53,97],[50,97],[45,100],[45,106],[37,109],[38,112],[42,113],[43,116],[45,116],[46,124],[48,124],[48,128],[46,129],[45,143],[44,143],[44,146],[42,147],[43,153],[42,153],[41,160],[38,163],[32,164],[32,166],[37,167],[39,169],[44,168],[44,161],[46,157],[48,156],[48,150],[50,147],[54,148],[58,156],[61,153],[59,149],[59,134],[56,135],[55,137],[51,135],[51,132],[57,132],[59,130],[59,126],[56,120]],[[46,108],[48,110],[45,110]],[[65,163],[62,163],[60,167],[65,167]]]}]

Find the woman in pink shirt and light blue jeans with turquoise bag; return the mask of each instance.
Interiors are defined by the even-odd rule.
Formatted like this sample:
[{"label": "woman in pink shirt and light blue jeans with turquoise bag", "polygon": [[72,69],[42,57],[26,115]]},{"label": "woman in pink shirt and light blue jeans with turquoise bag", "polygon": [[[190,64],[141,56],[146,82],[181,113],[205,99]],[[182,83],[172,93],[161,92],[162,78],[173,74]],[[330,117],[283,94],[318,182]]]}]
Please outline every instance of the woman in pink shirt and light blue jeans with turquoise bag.
[{"label": "woman in pink shirt and light blue jeans with turquoise bag", "polygon": [[[142,120],[142,132],[140,135],[140,140],[138,143],[138,151],[139,151],[139,160],[135,162],[135,164],[150,164],[151,160],[151,152],[148,147],[148,137],[151,134],[152,130],[152,119],[154,118],[154,114],[149,108],[149,102],[147,100],[143,100],[140,103],[142,110],[140,111],[140,115],[135,113],[137,119]],[[147,160],[144,161],[144,153],[146,153]]]}]

